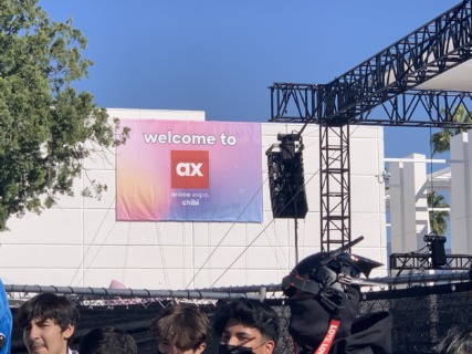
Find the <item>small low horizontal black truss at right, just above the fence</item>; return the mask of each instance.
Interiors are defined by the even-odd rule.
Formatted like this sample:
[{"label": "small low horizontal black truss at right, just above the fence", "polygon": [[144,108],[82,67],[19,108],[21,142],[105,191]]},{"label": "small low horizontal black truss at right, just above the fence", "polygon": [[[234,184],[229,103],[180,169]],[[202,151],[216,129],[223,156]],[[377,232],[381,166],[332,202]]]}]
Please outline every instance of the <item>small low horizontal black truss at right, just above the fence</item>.
[{"label": "small low horizontal black truss at right, just above the fence", "polygon": [[431,253],[392,253],[390,254],[390,270],[398,270],[399,275],[405,270],[469,270],[472,266],[472,256],[468,254],[448,254],[445,264],[434,267]]}]

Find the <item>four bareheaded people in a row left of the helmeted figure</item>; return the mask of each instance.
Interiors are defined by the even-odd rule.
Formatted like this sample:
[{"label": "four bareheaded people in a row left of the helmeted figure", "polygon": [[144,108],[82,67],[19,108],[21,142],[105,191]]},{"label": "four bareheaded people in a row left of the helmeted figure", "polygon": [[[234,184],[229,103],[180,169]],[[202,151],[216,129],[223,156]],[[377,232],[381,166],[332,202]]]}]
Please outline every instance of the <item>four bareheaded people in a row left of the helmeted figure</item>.
[{"label": "four bareheaded people in a row left of the helmeted figure", "polygon": [[[87,332],[71,348],[80,313],[65,296],[41,293],[21,305],[18,324],[29,354],[137,354],[133,336],[119,327],[103,326]],[[213,330],[221,354],[271,354],[280,335],[275,311],[268,304],[241,298],[220,308]],[[211,330],[208,315],[190,303],[164,308],[150,330],[159,354],[200,354]]]}]

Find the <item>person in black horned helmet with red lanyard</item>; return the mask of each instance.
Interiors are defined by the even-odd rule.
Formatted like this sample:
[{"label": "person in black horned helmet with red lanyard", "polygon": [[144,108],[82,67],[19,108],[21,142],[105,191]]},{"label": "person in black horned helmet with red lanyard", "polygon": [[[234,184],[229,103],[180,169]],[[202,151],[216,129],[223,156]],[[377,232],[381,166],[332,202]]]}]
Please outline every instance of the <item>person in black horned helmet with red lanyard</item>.
[{"label": "person in black horned helmet with red lanyard", "polygon": [[391,315],[378,312],[357,317],[360,289],[352,283],[379,266],[342,251],[319,252],[283,279],[291,309],[289,332],[298,353],[391,353]]}]

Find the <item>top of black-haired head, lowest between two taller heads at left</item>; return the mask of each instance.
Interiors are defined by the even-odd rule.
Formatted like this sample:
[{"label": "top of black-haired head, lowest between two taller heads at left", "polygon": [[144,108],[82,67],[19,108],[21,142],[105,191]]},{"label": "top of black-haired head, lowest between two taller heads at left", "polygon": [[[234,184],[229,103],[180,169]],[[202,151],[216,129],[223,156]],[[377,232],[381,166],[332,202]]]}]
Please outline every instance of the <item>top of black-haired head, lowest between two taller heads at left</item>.
[{"label": "top of black-haired head, lowest between two taller heads at left", "polygon": [[137,354],[135,340],[117,327],[93,329],[85,334],[78,346],[81,354]]}]

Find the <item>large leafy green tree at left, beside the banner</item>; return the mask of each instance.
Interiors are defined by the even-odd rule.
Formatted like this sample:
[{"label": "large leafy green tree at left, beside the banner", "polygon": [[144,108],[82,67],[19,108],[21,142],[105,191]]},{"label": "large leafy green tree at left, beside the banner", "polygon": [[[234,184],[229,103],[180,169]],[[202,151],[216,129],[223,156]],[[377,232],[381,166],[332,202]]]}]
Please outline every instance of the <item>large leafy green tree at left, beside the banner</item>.
[{"label": "large leafy green tree at left, beside the banner", "polygon": [[[0,230],[11,215],[72,195],[92,153],[86,142],[108,148],[127,137],[92,94],[73,88],[92,64],[85,46],[72,20],[51,21],[38,0],[0,1]],[[91,181],[84,194],[105,187]]]}]

